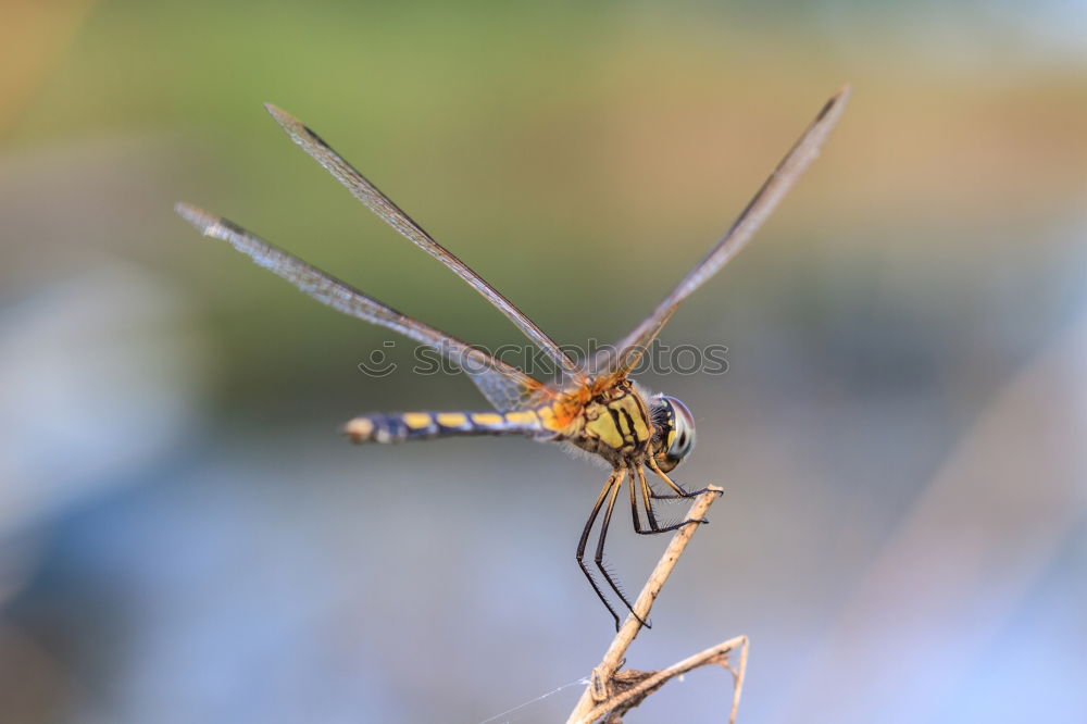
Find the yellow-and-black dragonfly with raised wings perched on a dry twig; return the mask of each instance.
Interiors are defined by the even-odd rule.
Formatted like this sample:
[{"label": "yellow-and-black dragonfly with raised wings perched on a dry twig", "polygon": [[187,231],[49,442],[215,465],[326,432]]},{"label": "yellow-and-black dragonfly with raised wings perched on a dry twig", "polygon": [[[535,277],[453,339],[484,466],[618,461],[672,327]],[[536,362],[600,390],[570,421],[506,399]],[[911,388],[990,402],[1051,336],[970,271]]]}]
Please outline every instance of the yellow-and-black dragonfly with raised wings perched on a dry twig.
[{"label": "yellow-and-black dragonfly with raised wings perched on a dry twig", "polygon": [[[695,448],[695,417],[690,409],[670,395],[650,394],[632,380],[630,374],[679,304],[748,244],[819,155],[845,109],[849,92],[846,86],[826,101],[716,245],[649,316],[616,345],[596,355],[591,364],[572,359],[513,302],[435,241],[305,124],[271,103],[265,104],[290,139],[347,187],[363,205],[483,295],[538,347],[555,366],[555,379],[551,382],[541,382],[483,349],[396,311],[222,216],[188,203],[178,203],[175,209],[202,235],[228,242],[317,301],[433,348],[467,374],[493,408],[483,412],[367,414],[343,426],[343,434],[351,440],[391,444],[460,436],[521,436],[573,446],[603,459],[611,473],[589,511],[575,558],[592,590],[614,619],[616,629],[620,616],[604,595],[601,579],[623,607],[648,626],[649,623],[635,613],[630,601],[604,565],[604,542],[620,491],[626,482],[635,532],[653,535],[705,523],[704,520],[684,520],[662,524],[654,508],[657,500],[691,498],[705,488],[688,490],[670,475]],[[657,487],[650,484],[650,475],[659,480]],[[661,484],[666,487],[666,492],[658,490]],[[598,519],[600,525],[590,567],[586,561],[586,548]],[[596,569],[599,579],[592,569]]]}]

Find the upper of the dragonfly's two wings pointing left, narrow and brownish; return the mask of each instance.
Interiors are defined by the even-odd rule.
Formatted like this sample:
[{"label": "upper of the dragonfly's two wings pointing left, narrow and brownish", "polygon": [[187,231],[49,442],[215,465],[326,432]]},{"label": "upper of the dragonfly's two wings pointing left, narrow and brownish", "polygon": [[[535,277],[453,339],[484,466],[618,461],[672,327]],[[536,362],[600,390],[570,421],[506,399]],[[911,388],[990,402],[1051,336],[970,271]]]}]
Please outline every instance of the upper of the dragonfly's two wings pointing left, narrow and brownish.
[{"label": "upper of the dragonfly's two wings pointing left, narrow and brownish", "polygon": [[342,159],[336,151],[325,142],[321,136],[313,133],[301,121],[287,113],[283,109],[271,103],[265,103],[272,117],[276,120],[287,135],[290,136],[303,151],[309,153],[314,161],[320,163],[325,171],[336,177],[340,184],[347,187],[354,198],[362,201],[363,205],[382,217],[386,224],[395,228],[401,236],[420,247],[428,254],[448,266],[452,272],[467,282],[472,287],[483,295],[487,301],[493,304],[498,311],[504,314],[513,324],[520,328],[528,339],[548,354],[563,373],[577,382],[585,382],[585,375],[578,370],[573,360],[570,359],[562,349],[544,334],[536,324],[525,316],[524,312],[517,309],[513,302],[503,297],[497,289],[487,284],[478,274],[468,269],[467,264],[454,257],[448,249],[435,241],[429,234],[405,214],[397,204],[392,203],[387,196],[380,192],[376,186],[371,184],[351,164]]}]

